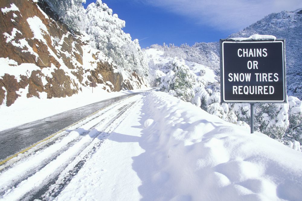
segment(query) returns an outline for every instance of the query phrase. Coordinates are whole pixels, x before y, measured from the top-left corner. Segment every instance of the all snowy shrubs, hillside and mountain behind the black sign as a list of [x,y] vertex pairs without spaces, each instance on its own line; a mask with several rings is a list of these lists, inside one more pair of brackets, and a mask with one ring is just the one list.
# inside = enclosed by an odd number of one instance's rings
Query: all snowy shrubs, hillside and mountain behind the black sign
[[[299,98],[302,98],[302,10],[270,14],[229,38],[247,38],[254,34],[275,35],[286,40],[289,96],[287,104],[255,104],[254,127],[296,150],[301,150],[302,104]],[[210,114],[249,127],[249,104],[220,105],[218,42],[195,43],[191,47],[187,44],[180,47],[174,44],[156,44],[145,51],[149,58],[150,79],[153,80],[151,84],[159,86],[161,91],[201,107]],[[196,76],[196,80],[191,73]],[[180,84],[180,80],[187,84]]]

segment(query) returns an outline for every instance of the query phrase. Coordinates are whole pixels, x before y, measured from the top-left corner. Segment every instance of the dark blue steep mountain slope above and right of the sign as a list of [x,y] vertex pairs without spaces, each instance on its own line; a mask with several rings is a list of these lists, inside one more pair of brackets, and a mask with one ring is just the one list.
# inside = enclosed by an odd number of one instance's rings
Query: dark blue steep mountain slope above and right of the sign
[[229,37],[248,37],[253,34],[274,35],[286,40],[288,95],[302,99],[302,8],[272,13]]

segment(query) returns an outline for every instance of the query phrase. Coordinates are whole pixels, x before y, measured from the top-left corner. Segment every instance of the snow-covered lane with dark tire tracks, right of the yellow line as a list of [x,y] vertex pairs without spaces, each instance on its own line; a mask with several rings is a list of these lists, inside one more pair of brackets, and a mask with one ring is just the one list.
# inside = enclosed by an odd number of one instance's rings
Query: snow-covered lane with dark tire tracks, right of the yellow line
[[0,166],[1,199],[57,196],[142,96],[117,101]]

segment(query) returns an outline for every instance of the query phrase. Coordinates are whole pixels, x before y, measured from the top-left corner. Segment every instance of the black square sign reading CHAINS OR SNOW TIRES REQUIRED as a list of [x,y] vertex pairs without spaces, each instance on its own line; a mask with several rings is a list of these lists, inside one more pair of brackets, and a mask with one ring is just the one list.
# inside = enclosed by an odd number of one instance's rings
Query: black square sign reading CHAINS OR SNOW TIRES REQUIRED
[[221,102],[286,102],[284,40],[220,40]]

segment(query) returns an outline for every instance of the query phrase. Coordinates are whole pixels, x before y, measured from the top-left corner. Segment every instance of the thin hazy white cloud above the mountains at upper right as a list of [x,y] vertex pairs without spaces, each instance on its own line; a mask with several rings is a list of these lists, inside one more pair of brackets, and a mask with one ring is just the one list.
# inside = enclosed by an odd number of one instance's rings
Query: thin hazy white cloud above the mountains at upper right
[[221,31],[239,31],[272,12],[302,8],[301,0],[140,0]]

